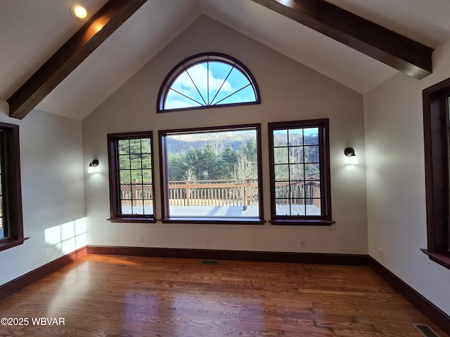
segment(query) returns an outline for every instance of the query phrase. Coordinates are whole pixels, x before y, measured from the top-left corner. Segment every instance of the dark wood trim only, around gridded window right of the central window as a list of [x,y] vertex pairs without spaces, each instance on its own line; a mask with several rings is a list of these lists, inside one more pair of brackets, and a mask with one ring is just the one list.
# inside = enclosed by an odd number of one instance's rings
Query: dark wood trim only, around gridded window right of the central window
[[[271,182],[271,224],[272,225],[320,225],[335,223],[331,217],[330,187],[330,143],[328,119],[312,119],[306,121],[281,121],[269,123],[269,164]],[[319,127],[319,161],[321,177],[321,216],[276,216],[276,187],[274,164],[274,136],[276,130],[285,128]]]

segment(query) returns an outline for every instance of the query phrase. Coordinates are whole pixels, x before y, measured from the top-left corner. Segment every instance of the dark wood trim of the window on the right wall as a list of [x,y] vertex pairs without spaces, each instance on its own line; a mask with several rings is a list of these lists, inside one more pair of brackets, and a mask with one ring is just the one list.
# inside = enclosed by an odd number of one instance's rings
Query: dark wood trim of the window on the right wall
[[450,79],[423,91],[427,249],[430,260],[450,269],[449,129]]

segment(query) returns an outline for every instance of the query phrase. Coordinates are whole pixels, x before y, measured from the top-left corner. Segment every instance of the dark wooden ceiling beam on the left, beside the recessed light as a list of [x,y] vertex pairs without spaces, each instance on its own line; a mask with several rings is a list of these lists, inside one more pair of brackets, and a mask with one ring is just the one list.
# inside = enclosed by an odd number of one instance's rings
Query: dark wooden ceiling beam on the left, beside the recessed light
[[108,1],[8,98],[10,117],[23,119],[146,1]]

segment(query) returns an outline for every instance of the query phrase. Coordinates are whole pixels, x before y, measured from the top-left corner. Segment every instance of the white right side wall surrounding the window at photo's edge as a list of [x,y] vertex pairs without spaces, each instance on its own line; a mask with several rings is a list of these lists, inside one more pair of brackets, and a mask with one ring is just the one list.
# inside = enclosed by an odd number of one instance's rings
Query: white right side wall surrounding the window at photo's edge
[[450,43],[433,58],[425,79],[397,74],[364,95],[368,253],[450,315],[450,270],[420,251],[427,247],[422,91],[450,77]]

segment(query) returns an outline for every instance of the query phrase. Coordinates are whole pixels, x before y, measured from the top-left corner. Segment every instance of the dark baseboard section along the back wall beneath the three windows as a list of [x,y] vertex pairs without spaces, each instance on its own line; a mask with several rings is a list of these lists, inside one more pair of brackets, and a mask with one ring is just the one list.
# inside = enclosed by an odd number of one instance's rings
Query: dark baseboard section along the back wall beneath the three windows
[[367,255],[290,253],[278,251],[223,251],[214,249],[167,249],[126,246],[87,246],[88,254],[153,256],[163,258],[199,258],[207,260],[243,260],[321,265],[367,265]]

